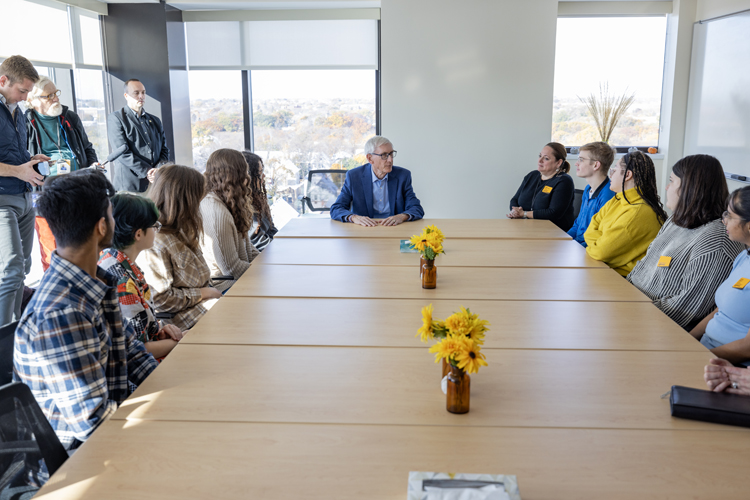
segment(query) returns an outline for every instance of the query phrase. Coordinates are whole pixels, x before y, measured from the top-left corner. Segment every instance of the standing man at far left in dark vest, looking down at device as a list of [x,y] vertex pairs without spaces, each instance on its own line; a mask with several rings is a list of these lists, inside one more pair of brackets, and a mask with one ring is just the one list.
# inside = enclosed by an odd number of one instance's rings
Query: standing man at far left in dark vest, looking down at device
[[25,57],[10,56],[0,64],[0,326],[21,316],[34,246],[31,188],[44,182],[36,164],[49,160],[26,150],[26,117],[18,108],[38,79]]

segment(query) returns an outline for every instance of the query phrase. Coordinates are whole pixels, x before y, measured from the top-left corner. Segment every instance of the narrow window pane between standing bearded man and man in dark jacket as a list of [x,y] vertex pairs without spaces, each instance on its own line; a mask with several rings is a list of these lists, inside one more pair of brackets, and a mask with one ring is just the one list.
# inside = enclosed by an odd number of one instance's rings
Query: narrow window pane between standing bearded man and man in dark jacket
[[83,122],[83,128],[86,129],[86,135],[94,145],[99,161],[103,162],[109,154],[109,146],[102,71],[77,69],[75,79],[78,116]]

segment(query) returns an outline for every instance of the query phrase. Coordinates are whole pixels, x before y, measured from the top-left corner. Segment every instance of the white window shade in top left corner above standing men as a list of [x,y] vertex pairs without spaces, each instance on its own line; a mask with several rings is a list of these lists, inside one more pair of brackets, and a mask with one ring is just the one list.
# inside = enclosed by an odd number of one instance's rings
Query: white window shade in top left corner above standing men
[[[2,13],[0,57],[22,55],[47,66],[72,63],[65,5],[3,0]],[[35,25],[35,20],[43,20],[43,24]]]

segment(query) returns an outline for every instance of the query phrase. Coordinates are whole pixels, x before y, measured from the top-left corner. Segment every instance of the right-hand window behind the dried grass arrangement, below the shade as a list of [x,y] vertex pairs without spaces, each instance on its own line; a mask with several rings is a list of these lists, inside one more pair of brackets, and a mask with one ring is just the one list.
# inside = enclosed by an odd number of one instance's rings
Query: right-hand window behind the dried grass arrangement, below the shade
[[552,140],[565,146],[600,140],[579,97],[598,95],[602,84],[610,95],[635,96],[610,144],[656,146],[666,29],[666,17],[559,18]]

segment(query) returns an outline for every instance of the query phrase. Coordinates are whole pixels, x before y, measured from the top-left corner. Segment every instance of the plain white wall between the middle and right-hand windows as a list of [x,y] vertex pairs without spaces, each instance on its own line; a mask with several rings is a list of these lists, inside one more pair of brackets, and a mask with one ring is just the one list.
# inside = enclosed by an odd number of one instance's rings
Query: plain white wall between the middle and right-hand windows
[[550,140],[556,27],[557,0],[382,0],[382,132],[427,217],[505,216]]

